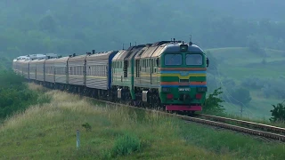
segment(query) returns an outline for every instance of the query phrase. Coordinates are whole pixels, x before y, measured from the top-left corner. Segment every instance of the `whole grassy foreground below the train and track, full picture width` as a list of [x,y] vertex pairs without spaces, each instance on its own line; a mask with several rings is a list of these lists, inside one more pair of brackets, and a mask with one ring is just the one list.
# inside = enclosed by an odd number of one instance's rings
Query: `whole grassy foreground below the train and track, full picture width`
[[[37,85],[31,85],[33,88]],[[59,91],[0,127],[1,158],[284,159],[285,146]],[[81,146],[76,148],[76,131]]]

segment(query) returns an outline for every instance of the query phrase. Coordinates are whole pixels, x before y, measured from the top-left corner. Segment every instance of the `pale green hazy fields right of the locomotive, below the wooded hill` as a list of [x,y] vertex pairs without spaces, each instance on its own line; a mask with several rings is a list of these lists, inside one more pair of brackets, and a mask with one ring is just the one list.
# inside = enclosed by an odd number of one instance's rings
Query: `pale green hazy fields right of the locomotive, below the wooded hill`
[[[252,100],[241,105],[244,108],[244,116],[269,118],[272,105],[283,100],[278,97],[281,95],[278,92],[284,92],[282,88],[285,87],[281,78],[284,76],[285,52],[265,49],[265,55],[261,55],[258,52],[250,52],[247,47],[214,48],[205,52],[216,59],[210,59],[210,67],[211,64],[218,65],[215,71],[209,73],[209,87],[222,86],[227,97],[232,96],[236,87],[247,88]],[[252,84],[258,84],[260,88],[251,88]],[[267,94],[269,97],[266,97]],[[240,115],[240,105],[225,102],[224,106],[228,112]]]

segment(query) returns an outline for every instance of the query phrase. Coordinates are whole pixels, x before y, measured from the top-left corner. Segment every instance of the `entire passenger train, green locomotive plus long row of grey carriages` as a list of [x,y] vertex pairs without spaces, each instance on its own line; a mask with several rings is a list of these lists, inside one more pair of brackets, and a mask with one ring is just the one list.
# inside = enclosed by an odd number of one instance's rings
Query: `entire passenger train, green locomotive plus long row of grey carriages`
[[159,41],[108,52],[27,55],[12,69],[29,82],[99,100],[169,112],[201,111],[209,60],[197,44]]

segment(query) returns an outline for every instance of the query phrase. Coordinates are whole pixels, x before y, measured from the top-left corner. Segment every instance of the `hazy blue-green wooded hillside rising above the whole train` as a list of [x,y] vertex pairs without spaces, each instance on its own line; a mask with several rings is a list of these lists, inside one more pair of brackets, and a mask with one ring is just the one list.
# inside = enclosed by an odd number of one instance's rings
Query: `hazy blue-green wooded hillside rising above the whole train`
[[284,4],[281,0],[4,0],[0,55],[102,52],[173,37],[188,42],[190,35],[203,49],[257,44],[284,50]]

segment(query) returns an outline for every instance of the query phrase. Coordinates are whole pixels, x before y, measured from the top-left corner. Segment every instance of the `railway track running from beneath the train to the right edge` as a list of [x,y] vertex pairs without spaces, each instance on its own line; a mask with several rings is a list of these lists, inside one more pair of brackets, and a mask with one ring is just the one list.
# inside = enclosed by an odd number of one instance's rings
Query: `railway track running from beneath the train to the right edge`
[[[90,98],[90,99],[93,99],[93,98]],[[97,100],[97,99],[93,99],[93,100]],[[194,123],[199,123],[199,124],[207,124],[210,126],[215,126],[215,127],[220,127],[220,128],[224,128],[227,130],[231,130],[234,132],[241,132],[241,133],[246,133],[246,134],[250,134],[250,135],[254,135],[254,136],[259,136],[258,139],[260,139],[260,140],[265,140],[265,141],[279,140],[281,142],[285,142],[285,135],[284,135],[285,128],[276,127],[276,126],[272,126],[272,125],[257,124],[257,123],[242,121],[242,120],[238,120],[238,119],[226,118],[226,117],[222,117],[222,116],[210,116],[210,115],[204,115],[204,114],[200,114],[197,117],[182,116],[182,115],[175,115],[175,114],[171,114],[171,113],[167,113],[167,112],[159,111],[159,110],[151,110],[148,108],[137,108],[134,106],[128,106],[126,104],[114,103],[114,102],[105,101],[105,100],[98,100],[98,101],[106,103],[107,105],[126,106],[128,108],[136,108],[136,109],[142,109],[142,110],[150,111],[150,112],[157,112],[159,114],[163,114],[166,116],[175,116],[175,117],[178,117],[178,118],[183,119],[183,120],[188,121],[188,122],[194,122]],[[207,119],[205,119],[205,118],[207,118]],[[219,121],[219,122],[216,122],[216,121]],[[226,124],[226,122],[240,124],[240,125],[244,125],[246,127],[234,125],[234,124]],[[252,129],[252,128],[257,128],[259,130]],[[266,132],[261,131],[261,130],[266,130]],[[270,132],[267,132],[267,131],[270,131]],[[278,132],[278,133],[276,133],[276,132]]]

